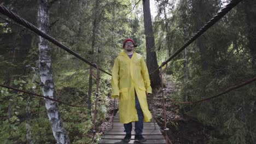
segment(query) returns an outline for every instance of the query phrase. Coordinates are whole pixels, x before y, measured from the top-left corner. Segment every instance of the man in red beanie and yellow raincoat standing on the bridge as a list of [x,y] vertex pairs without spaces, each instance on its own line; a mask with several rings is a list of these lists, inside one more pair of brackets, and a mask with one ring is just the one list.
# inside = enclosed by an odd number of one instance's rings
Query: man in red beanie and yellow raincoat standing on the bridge
[[119,98],[120,122],[126,132],[124,141],[130,141],[135,122],[135,140],[144,142],[143,122],[152,118],[147,103],[147,95],[152,93],[148,69],[143,57],[135,52],[132,39],[124,41],[123,49],[112,69],[112,98]]

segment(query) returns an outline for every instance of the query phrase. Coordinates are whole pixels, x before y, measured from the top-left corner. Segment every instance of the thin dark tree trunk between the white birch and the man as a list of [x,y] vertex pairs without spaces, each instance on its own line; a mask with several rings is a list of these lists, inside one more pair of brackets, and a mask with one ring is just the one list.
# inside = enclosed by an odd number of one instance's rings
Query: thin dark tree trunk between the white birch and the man
[[[98,9],[99,0],[96,0],[95,7],[94,7],[94,21],[92,23],[92,37],[91,37],[91,62],[94,62],[94,49],[95,49],[95,35],[96,35],[96,28],[97,28],[97,9]],[[90,67],[92,69],[92,67]],[[91,92],[92,92],[92,75],[90,73],[89,76],[89,90],[88,90],[88,110],[91,115]]]

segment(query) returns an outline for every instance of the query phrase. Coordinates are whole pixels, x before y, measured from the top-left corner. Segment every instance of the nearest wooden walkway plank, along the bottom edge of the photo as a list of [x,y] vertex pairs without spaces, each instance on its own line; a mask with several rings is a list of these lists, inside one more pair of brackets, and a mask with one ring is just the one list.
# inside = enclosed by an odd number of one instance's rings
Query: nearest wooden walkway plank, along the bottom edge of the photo
[[131,140],[130,142],[123,142],[123,140],[108,140],[108,139],[101,139],[98,143],[145,143],[145,144],[166,144],[165,140],[147,140],[146,142],[139,142],[136,140]]

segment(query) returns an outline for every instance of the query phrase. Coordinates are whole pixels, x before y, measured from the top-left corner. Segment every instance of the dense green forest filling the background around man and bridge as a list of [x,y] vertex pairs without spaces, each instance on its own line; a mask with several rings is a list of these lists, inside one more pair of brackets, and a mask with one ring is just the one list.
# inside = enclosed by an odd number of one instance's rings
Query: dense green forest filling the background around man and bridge
[[[154,43],[150,43],[152,49],[149,50],[144,32],[147,27],[144,23],[147,11],[143,11],[145,1],[45,1],[49,8],[49,34],[106,71],[111,71],[115,57],[122,51],[123,41],[132,38],[138,44],[136,52],[147,58],[150,67],[149,55],[155,52],[157,63],[161,65],[230,2],[153,1],[157,14],[152,16],[154,33],[150,41]],[[38,25],[37,1],[1,0],[0,4]],[[38,36],[2,14],[0,35],[1,84],[43,94]],[[49,45],[55,98],[86,106],[59,104],[63,127],[71,143],[91,143],[96,81],[89,73],[90,66],[54,44]],[[255,72],[256,2],[244,0],[168,64],[165,76],[176,88],[166,99],[194,101],[211,97],[252,79]],[[109,75],[101,74],[97,125],[107,121],[111,109],[110,79]],[[92,83],[91,88],[89,83]],[[154,87],[159,88],[159,81]],[[56,143],[43,99],[7,88],[0,90],[1,142]],[[207,143],[256,141],[255,82],[216,99],[182,104],[178,112],[205,125],[210,131]],[[177,126],[171,119],[168,123]],[[96,141],[100,137],[101,133],[97,133]]]

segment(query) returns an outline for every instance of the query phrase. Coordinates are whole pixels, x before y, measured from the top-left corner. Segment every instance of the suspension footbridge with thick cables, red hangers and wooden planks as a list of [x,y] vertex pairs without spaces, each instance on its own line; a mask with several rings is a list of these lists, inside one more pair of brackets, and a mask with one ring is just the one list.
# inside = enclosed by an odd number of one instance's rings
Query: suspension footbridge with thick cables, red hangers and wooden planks
[[[242,0],[232,0],[232,1],[230,1],[226,5],[226,7],[224,7],[222,10],[220,10],[220,12],[217,15],[215,15],[210,21],[206,22],[205,25],[203,25],[201,27],[201,29],[199,29],[199,31],[197,31],[188,41],[186,41],[185,44],[182,45],[181,48],[177,52],[175,52],[170,58],[168,58],[167,61],[162,62],[162,64],[160,65],[159,68],[155,69],[154,71],[152,71],[152,73],[150,73],[150,75],[151,75],[151,74],[155,73],[156,71],[160,70],[160,73],[159,73],[160,77],[161,77],[161,89],[160,89],[160,91],[162,92],[162,107],[163,107],[163,119],[164,119],[164,129],[162,129],[162,131],[164,131],[164,135],[162,135],[159,125],[155,122],[154,113],[152,113],[153,114],[152,121],[148,122],[148,123],[144,123],[144,133],[143,133],[143,135],[144,135],[144,137],[146,137],[147,141],[143,142],[143,143],[172,143],[171,140],[168,138],[167,133],[166,133],[167,130],[169,130],[169,129],[166,127],[167,119],[166,119],[165,100],[164,100],[164,93],[163,93],[165,91],[165,89],[162,85],[162,73],[163,73],[164,70],[162,70],[162,67],[164,67],[164,65],[166,65],[168,62],[170,62],[174,57],[176,57],[179,53],[181,53],[186,47],[188,47],[191,43],[193,43],[193,41],[195,41],[197,38],[199,38],[200,35],[205,33],[207,31],[207,29],[209,29],[211,26],[214,25],[214,23],[216,23],[220,19],[222,19],[223,16],[225,16],[232,8],[234,8],[241,1]],[[30,31],[40,35],[40,37],[50,41],[51,43],[53,43],[56,46],[60,47],[61,49],[65,50],[66,52],[70,53],[71,55],[73,55],[73,56],[77,57],[78,59],[82,60],[83,62],[91,65],[91,67],[94,67],[94,68],[97,69],[97,74],[94,74],[94,72],[92,70],[90,70],[90,73],[95,77],[95,79],[97,81],[97,83],[96,83],[97,87],[96,87],[96,93],[95,93],[96,94],[95,110],[94,110],[94,119],[93,119],[94,127],[93,127],[93,130],[92,130],[92,143],[94,143],[95,142],[95,140],[94,140],[95,139],[95,134],[97,133],[95,121],[96,121],[96,113],[97,113],[97,101],[100,97],[100,95],[98,95],[100,71],[102,71],[103,73],[105,73],[109,76],[111,76],[111,74],[108,73],[107,71],[103,70],[102,68],[98,67],[97,64],[91,63],[86,58],[83,58],[78,53],[72,51],[69,47],[61,44],[55,38],[46,34],[45,32],[43,32],[42,30],[40,30],[36,26],[32,25],[32,23],[26,21],[25,19],[23,19],[22,17],[20,17],[19,15],[15,14],[15,13],[13,13],[13,11],[9,10],[8,8],[4,7],[4,5],[1,5],[1,4],[0,4],[0,13],[9,17],[10,19],[15,21],[16,23],[19,23],[19,25],[24,26],[27,29],[29,29]],[[256,77],[254,77],[251,80],[241,82],[237,86],[230,87],[230,88],[226,89],[226,91],[220,92],[219,94],[214,95],[213,97],[210,97],[210,98],[205,98],[205,99],[201,99],[201,100],[197,100],[197,101],[176,101],[176,100],[171,100],[171,101],[173,103],[181,103],[181,104],[201,103],[202,101],[205,101],[205,100],[210,100],[210,99],[213,99],[213,98],[220,97],[223,94],[226,94],[230,91],[233,91],[234,89],[246,86],[249,83],[252,83],[254,81],[256,81]],[[27,94],[30,94],[30,95],[34,95],[36,97],[41,97],[41,98],[48,99],[48,100],[51,100],[51,101],[56,101],[57,103],[61,103],[61,104],[72,106],[72,107],[86,107],[86,106],[67,104],[63,101],[59,101],[59,100],[56,100],[56,99],[53,99],[53,98],[49,98],[48,95],[40,95],[40,94],[36,94],[36,93],[32,93],[32,92],[26,92],[26,91],[23,91],[21,89],[17,89],[17,88],[14,88],[14,87],[2,85],[1,83],[0,83],[0,86],[8,88],[8,89],[13,89],[14,91],[19,91],[19,92],[22,92],[22,93],[27,93]],[[134,123],[133,123],[133,125],[134,125]],[[105,131],[105,133],[102,136],[102,139],[100,140],[99,143],[123,143],[122,140],[123,140],[124,136],[125,136],[125,132],[124,132],[123,124],[119,123],[119,113],[117,113],[117,115],[113,116],[113,118],[112,118],[111,127]],[[134,133],[133,132],[132,132],[132,139],[129,143],[137,143],[137,141],[134,140]]]

